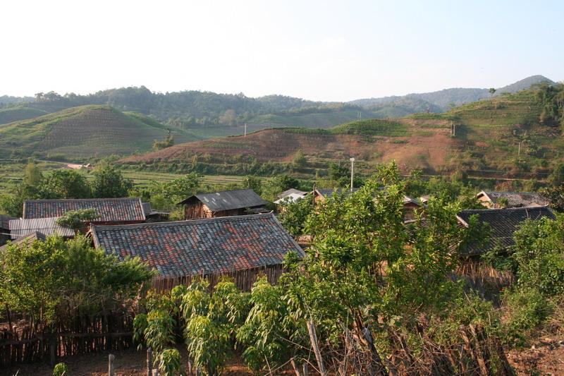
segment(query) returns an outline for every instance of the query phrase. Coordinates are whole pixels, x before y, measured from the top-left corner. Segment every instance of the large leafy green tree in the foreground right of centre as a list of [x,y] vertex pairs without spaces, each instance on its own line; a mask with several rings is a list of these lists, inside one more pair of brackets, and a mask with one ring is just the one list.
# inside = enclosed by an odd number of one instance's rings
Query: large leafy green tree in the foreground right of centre
[[455,216],[460,207],[431,200],[427,217],[417,216],[407,229],[404,195],[395,164],[379,166],[356,193],[333,195],[307,219],[307,256],[290,255],[290,272],[281,278],[295,320],[311,320],[326,346],[359,339],[376,374],[385,368],[373,331],[385,336],[397,320],[414,328],[443,315],[462,293],[449,277],[458,265],[453,245],[465,241]]

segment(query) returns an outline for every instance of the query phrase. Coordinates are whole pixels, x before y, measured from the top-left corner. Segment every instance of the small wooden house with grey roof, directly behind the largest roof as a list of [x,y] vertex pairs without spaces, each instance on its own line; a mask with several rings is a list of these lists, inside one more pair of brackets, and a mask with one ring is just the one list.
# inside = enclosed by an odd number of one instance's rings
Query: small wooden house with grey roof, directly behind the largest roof
[[202,219],[265,212],[267,203],[252,189],[238,189],[200,193],[178,202],[178,205],[184,205],[185,219]]

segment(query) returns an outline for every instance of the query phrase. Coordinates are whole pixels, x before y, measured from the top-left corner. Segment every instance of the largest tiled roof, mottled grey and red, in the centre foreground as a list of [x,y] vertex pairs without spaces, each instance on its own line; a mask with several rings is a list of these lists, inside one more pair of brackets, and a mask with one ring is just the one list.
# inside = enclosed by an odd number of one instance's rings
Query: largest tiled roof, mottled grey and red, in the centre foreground
[[220,274],[279,265],[288,251],[304,255],[274,214],[180,222],[92,226],[94,245],[121,260],[139,256],[164,277]]

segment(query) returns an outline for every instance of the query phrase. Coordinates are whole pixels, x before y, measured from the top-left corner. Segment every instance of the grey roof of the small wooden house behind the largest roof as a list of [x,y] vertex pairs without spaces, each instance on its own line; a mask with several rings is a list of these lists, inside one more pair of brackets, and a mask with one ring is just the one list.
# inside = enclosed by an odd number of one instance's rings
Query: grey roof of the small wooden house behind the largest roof
[[186,204],[197,198],[204,203],[212,212],[223,210],[245,209],[245,207],[259,207],[266,205],[264,201],[252,189],[224,190],[223,192],[201,193],[200,195],[190,196],[178,205]]

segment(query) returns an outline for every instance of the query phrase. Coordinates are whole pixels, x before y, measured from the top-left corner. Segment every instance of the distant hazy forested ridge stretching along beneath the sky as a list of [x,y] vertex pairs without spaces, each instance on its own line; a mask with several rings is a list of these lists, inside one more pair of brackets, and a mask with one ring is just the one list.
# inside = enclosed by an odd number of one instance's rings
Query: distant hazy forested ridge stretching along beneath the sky
[[[501,87],[497,94],[517,92],[540,82],[552,82],[535,75]],[[152,92],[145,86],[103,90],[90,95],[56,92],[30,97],[0,97],[0,124],[32,119],[62,109],[83,105],[109,105],[122,111],[136,111],[179,128],[235,126],[242,123],[264,126],[314,126],[328,128],[357,116],[384,119],[409,114],[439,113],[453,105],[489,97],[488,89],[454,88],[403,97],[358,99],[353,102],[313,102],[283,95],[246,97],[214,92]],[[229,134],[231,132],[226,132]],[[204,135],[205,136],[205,135]]]

